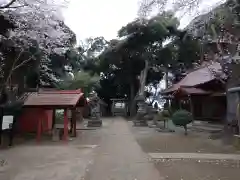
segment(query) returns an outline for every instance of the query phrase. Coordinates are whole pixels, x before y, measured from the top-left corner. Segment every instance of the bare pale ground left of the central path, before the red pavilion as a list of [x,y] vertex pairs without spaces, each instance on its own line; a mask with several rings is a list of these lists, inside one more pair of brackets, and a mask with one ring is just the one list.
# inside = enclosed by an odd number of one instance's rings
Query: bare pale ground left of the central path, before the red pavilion
[[99,130],[77,133],[67,143],[44,135],[40,143],[35,135],[16,137],[13,147],[0,149],[0,180],[80,180],[104,136]]

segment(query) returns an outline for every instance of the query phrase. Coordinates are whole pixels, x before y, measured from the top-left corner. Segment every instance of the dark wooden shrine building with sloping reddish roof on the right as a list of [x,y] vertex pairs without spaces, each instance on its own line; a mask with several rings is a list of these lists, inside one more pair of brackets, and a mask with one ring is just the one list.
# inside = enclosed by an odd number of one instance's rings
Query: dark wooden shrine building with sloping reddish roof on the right
[[219,70],[221,66],[217,63],[209,66],[190,72],[162,94],[172,96],[173,109],[186,109],[194,119],[222,121],[226,116],[225,84],[210,71],[210,68]]

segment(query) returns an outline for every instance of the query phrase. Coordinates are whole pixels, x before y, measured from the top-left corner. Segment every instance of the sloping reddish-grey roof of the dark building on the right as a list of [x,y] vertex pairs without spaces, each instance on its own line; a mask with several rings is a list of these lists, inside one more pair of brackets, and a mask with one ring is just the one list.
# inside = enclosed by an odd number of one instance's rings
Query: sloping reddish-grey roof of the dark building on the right
[[196,85],[204,84],[209,81],[212,81],[216,79],[216,77],[213,75],[211,70],[213,70],[214,72],[220,72],[221,65],[216,62],[211,65],[207,65],[205,67],[196,69],[188,73],[180,82],[164,90],[162,93],[170,93],[178,90],[180,87],[194,87]]

